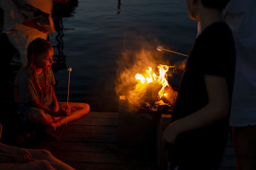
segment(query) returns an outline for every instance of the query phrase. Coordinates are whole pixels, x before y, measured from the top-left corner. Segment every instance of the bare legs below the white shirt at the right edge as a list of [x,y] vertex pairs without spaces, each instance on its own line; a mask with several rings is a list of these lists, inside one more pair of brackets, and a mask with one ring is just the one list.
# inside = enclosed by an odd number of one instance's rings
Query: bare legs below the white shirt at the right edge
[[256,126],[233,127],[237,169],[256,169]]

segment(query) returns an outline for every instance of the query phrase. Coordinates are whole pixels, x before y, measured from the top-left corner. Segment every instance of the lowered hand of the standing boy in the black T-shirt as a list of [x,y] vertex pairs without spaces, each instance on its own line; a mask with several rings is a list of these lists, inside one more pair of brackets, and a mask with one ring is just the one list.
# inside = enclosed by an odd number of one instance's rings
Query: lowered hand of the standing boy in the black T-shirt
[[166,129],[163,131],[163,140],[170,144],[175,144],[175,141],[177,139],[179,132],[179,128],[175,126],[176,122],[173,122],[172,124],[168,125]]

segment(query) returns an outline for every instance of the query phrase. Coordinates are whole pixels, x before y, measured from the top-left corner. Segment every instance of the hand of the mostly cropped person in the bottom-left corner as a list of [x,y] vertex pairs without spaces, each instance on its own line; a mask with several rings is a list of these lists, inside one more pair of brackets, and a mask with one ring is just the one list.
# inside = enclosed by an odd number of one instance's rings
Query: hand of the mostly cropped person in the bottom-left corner
[[15,148],[12,155],[16,155],[15,160],[19,163],[27,163],[31,161],[31,153],[24,148]]

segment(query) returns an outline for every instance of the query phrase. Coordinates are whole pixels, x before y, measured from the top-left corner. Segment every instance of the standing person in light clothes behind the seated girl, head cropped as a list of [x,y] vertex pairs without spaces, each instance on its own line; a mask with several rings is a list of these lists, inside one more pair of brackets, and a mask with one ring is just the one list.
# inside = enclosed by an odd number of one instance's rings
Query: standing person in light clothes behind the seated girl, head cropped
[[[6,43],[11,43],[20,55],[21,67],[15,76],[15,87],[20,71],[28,62],[29,43],[36,38],[47,39],[48,33],[55,32],[52,21],[52,1],[67,2],[68,0],[0,0],[0,8],[4,11],[2,34],[6,34],[9,41]],[[15,101],[17,97],[15,89]]]

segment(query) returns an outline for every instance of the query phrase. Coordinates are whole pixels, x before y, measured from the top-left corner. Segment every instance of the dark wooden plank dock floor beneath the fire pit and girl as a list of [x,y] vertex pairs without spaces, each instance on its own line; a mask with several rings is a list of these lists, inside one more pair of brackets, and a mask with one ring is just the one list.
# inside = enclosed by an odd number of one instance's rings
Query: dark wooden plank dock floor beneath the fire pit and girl
[[[155,153],[118,146],[118,113],[91,112],[69,124],[60,138],[47,138],[33,148],[47,149],[75,169],[157,169]],[[236,169],[231,136],[221,164],[224,169]]]

